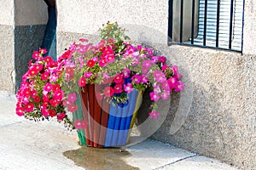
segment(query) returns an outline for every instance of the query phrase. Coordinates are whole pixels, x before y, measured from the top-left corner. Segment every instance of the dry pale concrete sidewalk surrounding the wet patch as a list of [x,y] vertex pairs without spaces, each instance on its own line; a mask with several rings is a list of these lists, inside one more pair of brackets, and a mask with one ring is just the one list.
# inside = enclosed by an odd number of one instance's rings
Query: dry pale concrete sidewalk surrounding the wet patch
[[[15,95],[0,92],[0,169],[84,169],[63,156],[78,150],[76,132],[56,122],[32,122],[15,115]],[[124,161],[139,169],[235,170],[218,160],[147,139],[126,148]],[[85,161],[85,160],[84,160]],[[93,162],[92,162],[93,163]],[[113,167],[113,169],[116,169]]]

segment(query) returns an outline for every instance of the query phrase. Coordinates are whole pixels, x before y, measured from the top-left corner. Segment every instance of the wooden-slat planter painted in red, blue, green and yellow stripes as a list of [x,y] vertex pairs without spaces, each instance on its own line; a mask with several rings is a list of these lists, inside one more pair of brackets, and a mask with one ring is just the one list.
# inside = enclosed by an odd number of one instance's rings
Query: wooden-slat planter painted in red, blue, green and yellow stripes
[[[86,85],[80,94],[79,110],[74,113],[75,120],[88,122],[88,127],[79,129],[80,144],[102,148],[125,145],[142,101],[142,94],[133,90],[128,94],[128,102],[113,105],[106,99],[96,98],[96,86]],[[79,102],[79,101],[78,101]]]

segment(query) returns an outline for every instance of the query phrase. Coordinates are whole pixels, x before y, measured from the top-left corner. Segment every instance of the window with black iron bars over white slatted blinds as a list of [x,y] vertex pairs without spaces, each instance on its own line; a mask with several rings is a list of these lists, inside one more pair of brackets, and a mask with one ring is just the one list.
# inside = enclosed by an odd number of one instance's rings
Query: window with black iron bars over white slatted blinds
[[169,43],[242,51],[243,0],[169,0]]

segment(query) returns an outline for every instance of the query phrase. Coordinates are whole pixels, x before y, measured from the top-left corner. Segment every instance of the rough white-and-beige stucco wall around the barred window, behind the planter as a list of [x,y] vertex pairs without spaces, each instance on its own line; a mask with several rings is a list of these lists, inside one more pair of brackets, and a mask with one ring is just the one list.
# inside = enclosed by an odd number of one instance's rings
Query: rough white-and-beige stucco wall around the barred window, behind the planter
[[[166,46],[168,2],[57,1],[58,54],[108,20],[130,26],[132,39],[160,49],[183,73],[185,90],[154,139],[256,169],[255,2],[246,0],[244,53]],[[129,25],[130,24],[130,25]],[[174,109],[173,109],[174,108]],[[175,118],[176,117],[176,118]]]

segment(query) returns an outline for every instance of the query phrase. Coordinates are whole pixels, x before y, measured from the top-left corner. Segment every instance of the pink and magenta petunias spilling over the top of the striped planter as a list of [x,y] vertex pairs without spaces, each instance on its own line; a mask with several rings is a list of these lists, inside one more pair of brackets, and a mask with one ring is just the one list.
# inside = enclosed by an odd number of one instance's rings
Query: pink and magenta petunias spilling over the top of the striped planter
[[[116,24],[108,24],[102,32],[116,29]],[[160,115],[156,111],[157,101],[169,99],[173,91],[183,90],[177,66],[167,65],[166,57],[155,55],[151,48],[109,35],[108,32],[108,37],[105,35],[96,45],[86,39],[73,42],[61,56],[67,58],[62,86],[66,96],[78,94],[86,84],[97,84],[101,85],[96,91],[98,99],[108,98],[108,101],[123,105],[133,89],[143,93],[146,88],[151,88],[153,104],[149,116],[157,118]]]

